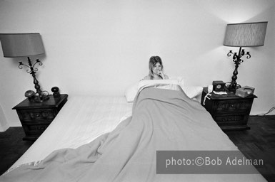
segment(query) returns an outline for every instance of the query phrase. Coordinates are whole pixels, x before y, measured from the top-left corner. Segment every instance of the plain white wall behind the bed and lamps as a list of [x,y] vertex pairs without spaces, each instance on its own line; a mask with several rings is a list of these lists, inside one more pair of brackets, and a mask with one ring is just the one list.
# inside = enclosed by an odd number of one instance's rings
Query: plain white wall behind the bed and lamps
[[[160,55],[167,75],[186,85],[231,81],[234,63],[223,46],[227,23],[269,21],[262,47],[246,48],[251,58],[237,82],[256,88],[251,114],[274,106],[274,0],[0,0],[0,33],[41,33],[46,55],[38,80],[44,90],[59,86],[73,96],[123,95],[148,73]],[[31,75],[0,51],[0,102],[10,126],[20,126],[11,108],[34,90]]]

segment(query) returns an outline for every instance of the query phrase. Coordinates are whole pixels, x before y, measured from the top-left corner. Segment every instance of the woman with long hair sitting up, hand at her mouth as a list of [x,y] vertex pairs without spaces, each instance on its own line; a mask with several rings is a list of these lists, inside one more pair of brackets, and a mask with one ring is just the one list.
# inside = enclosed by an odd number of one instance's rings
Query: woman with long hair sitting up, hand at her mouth
[[161,58],[159,56],[152,56],[149,60],[149,74],[142,80],[162,80],[169,79],[167,75],[164,75],[164,66],[162,65]]

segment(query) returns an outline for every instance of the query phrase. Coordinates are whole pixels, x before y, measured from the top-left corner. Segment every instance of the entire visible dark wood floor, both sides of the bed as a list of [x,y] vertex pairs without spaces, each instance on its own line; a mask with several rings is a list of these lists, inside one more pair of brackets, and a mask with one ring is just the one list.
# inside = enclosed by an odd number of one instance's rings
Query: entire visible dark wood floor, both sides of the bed
[[[248,159],[263,159],[264,166],[256,166],[267,181],[275,181],[275,115],[250,117],[251,129],[225,132]],[[21,127],[0,132],[0,173],[4,173],[33,144],[23,141]]]

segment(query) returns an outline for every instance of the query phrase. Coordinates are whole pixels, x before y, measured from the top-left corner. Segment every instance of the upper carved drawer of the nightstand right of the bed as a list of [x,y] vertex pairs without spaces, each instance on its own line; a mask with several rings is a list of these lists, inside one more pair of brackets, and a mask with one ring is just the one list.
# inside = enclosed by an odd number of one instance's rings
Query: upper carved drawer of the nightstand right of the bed
[[250,111],[253,100],[224,100],[216,102],[214,108],[219,112],[246,112]]

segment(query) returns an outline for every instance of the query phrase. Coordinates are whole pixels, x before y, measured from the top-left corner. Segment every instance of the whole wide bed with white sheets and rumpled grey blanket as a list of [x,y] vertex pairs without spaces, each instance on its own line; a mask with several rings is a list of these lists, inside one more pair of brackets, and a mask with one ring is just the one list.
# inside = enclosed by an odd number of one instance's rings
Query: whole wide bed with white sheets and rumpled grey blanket
[[0,181],[266,181],[254,166],[252,174],[157,174],[156,151],[238,149],[179,80],[136,88],[134,99],[69,97]]

